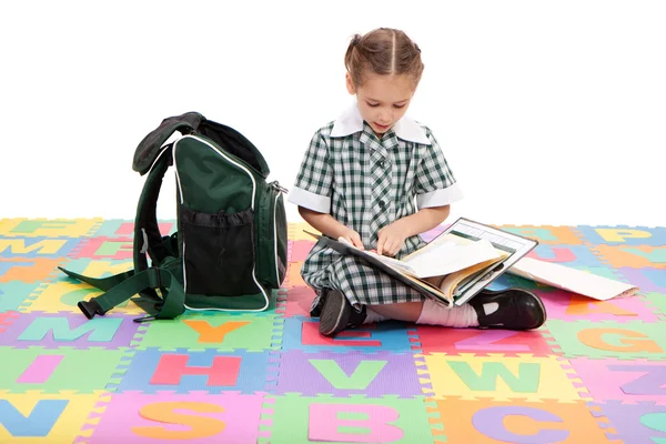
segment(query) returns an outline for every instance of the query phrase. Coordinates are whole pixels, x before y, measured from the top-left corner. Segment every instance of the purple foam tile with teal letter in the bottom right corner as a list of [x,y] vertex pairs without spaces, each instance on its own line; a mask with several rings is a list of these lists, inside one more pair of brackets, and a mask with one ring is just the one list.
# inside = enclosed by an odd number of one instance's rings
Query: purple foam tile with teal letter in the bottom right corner
[[643,402],[627,405],[620,401],[592,403],[593,414],[601,416],[613,427],[609,438],[625,443],[666,442],[666,406]]

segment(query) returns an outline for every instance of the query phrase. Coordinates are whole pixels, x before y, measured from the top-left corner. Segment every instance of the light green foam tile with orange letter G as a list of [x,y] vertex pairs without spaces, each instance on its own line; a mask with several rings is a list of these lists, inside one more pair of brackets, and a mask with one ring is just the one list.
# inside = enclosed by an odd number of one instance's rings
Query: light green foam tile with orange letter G
[[663,323],[548,321],[554,351],[566,357],[666,359]]

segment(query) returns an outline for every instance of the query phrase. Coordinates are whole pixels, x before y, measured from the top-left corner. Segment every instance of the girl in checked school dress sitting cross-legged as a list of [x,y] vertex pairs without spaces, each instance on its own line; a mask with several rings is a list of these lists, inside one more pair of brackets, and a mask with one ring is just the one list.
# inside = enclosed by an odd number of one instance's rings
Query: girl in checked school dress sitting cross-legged
[[[418,47],[381,28],[355,36],[344,62],[355,101],[315,132],[289,201],[323,234],[400,259],[425,245],[418,234],[444,222],[462,193],[431,130],[405,115],[423,72]],[[525,290],[485,290],[447,307],[320,243],[301,275],[316,293],[311,315],[327,336],[385,319],[511,330],[546,319],[542,301]]]

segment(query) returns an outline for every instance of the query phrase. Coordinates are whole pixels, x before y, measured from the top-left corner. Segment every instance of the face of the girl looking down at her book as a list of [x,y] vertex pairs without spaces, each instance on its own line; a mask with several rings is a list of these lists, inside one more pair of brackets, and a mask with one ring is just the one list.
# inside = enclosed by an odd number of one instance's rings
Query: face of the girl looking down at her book
[[377,137],[382,137],[407,112],[414,95],[414,78],[410,74],[366,74],[362,85],[355,87],[346,74],[350,94],[356,94],[359,111]]

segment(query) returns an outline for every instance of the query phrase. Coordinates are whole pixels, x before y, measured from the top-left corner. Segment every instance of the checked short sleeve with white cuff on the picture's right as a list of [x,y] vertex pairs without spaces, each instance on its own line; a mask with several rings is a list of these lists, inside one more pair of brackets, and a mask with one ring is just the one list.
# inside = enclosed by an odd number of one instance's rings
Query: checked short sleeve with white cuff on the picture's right
[[425,147],[415,174],[416,202],[420,209],[448,205],[463,198],[437,140],[428,129],[426,134],[431,145]]

